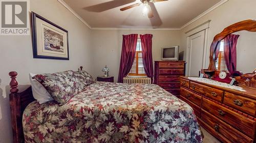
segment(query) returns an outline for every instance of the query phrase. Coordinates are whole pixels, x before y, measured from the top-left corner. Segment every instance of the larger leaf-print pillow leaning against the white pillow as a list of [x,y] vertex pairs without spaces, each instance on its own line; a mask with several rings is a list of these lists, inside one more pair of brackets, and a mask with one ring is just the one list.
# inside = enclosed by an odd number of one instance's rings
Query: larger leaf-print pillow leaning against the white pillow
[[65,104],[78,93],[73,71],[37,74],[33,77],[40,82],[60,105]]

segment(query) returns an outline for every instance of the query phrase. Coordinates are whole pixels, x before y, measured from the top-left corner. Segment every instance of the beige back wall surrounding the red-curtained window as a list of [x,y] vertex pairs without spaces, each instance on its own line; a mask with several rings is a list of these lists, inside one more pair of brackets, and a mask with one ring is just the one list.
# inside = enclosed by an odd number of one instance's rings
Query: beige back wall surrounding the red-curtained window
[[160,30],[93,30],[92,47],[94,76],[102,75],[101,69],[107,65],[110,75],[118,78],[120,56],[122,50],[122,35],[153,34],[153,61],[160,60],[162,47],[180,45],[180,31]]

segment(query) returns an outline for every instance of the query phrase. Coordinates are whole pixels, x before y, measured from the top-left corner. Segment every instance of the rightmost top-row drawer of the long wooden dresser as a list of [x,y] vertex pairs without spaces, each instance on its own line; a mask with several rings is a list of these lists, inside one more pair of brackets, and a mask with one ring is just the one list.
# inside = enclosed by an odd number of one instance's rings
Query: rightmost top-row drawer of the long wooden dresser
[[236,108],[240,111],[248,113],[251,116],[256,117],[256,101],[251,100],[239,95],[225,92],[224,104]]

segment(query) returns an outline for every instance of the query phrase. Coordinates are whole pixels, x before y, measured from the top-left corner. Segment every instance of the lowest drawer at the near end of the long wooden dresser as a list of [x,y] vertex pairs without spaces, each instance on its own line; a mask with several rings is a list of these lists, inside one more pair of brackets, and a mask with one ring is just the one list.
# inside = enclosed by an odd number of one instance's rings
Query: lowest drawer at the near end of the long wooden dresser
[[215,116],[212,116],[210,113],[208,113],[203,109],[201,111],[201,119],[204,122],[206,122],[209,126],[211,126],[211,128],[213,128],[216,133],[222,134],[230,142],[237,142],[237,143],[253,142],[253,139],[249,138],[248,136],[244,135],[238,130],[232,128],[228,124],[224,123],[223,121],[216,118]]

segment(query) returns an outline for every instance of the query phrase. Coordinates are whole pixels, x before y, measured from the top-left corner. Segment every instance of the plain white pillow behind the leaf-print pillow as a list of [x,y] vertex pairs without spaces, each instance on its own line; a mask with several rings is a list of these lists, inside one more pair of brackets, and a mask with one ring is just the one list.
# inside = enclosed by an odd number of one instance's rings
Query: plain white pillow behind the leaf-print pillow
[[39,104],[46,103],[48,101],[52,101],[53,98],[51,95],[47,92],[44,86],[42,86],[41,83],[39,83],[36,79],[33,79],[32,77],[36,74],[29,73],[29,80],[32,87],[32,93],[33,97],[39,102]]

